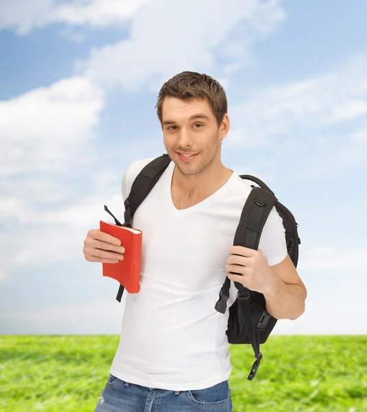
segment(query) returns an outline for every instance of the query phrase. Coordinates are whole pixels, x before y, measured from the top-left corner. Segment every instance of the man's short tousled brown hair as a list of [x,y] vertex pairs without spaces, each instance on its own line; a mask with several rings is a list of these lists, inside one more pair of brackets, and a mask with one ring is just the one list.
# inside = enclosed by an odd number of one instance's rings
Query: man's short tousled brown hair
[[223,116],[227,113],[227,97],[221,84],[207,74],[196,71],[183,71],[165,82],[159,91],[157,116],[162,124],[162,105],[167,96],[182,100],[207,99],[220,126]]

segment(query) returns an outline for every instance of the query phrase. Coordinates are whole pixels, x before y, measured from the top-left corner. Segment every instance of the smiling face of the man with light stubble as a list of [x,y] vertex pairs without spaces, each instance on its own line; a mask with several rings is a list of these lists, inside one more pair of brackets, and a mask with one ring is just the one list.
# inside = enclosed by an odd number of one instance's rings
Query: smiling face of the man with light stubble
[[[192,119],[191,117],[201,115]],[[182,174],[198,174],[221,163],[221,139],[229,130],[225,114],[219,127],[208,100],[167,97],[162,105],[164,146]],[[185,161],[179,153],[195,154]]]

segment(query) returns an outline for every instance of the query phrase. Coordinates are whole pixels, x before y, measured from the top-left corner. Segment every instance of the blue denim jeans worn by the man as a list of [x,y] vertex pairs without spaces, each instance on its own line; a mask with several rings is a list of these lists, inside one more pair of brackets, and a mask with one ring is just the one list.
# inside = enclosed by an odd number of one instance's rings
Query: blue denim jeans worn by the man
[[210,388],[168,391],[109,376],[94,412],[232,412],[228,380]]

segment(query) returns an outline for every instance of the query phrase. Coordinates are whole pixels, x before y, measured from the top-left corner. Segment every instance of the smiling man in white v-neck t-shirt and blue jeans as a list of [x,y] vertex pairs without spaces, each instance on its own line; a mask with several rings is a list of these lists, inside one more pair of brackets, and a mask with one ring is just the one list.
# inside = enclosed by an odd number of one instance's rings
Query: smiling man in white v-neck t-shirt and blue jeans
[[[179,73],[162,86],[156,108],[172,161],[133,218],[143,231],[140,292],[126,294],[120,344],[96,412],[228,412],[232,365],[225,331],[233,282],[226,313],[214,308],[225,276],[263,293],[276,319],[300,317],[307,290],[275,207],[258,251],[231,246],[252,187],[221,163],[230,119],[219,82]],[[153,159],[126,168],[124,199]],[[115,240],[91,229],[85,258],[118,262],[124,245]]]

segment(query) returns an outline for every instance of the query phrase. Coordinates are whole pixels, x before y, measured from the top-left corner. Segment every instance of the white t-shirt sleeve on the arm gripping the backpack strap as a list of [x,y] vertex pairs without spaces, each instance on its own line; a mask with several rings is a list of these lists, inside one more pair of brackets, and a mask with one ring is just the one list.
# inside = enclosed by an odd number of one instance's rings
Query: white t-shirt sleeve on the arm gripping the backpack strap
[[260,236],[258,249],[267,257],[269,266],[274,266],[287,257],[287,242],[285,240],[285,227],[276,207],[271,209]]

